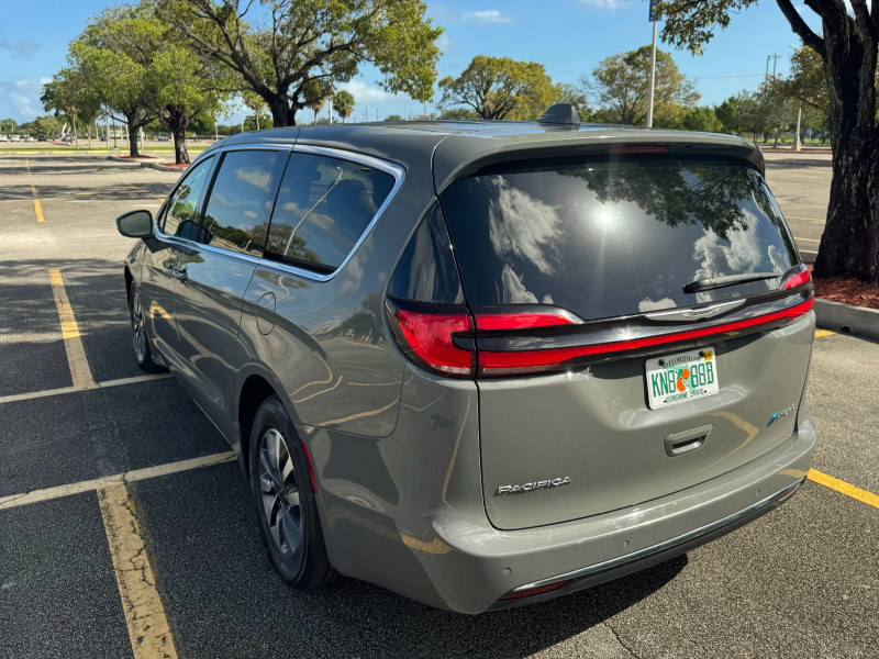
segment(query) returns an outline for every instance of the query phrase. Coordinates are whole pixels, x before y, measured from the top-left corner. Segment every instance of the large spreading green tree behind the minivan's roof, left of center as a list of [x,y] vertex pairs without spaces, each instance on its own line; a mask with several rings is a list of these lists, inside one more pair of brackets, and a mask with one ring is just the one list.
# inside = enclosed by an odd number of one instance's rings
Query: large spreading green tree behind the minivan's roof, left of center
[[262,97],[276,126],[296,125],[312,81],[333,87],[360,64],[376,66],[382,87],[418,100],[433,96],[442,29],[424,18],[421,0],[157,0],[162,15],[200,53],[235,70]]

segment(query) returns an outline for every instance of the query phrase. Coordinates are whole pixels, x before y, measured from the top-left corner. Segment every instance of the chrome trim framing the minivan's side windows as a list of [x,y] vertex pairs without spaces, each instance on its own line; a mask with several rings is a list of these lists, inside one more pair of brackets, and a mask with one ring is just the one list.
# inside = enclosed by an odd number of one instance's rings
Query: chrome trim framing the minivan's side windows
[[[198,243],[196,241],[189,241],[187,238],[180,238],[178,236],[171,236],[171,235],[168,235],[168,234],[162,232],[162,230],[158,226],[158,221],[156,221],[154,223],[154,233],[156,234],[156,237],[158,237],[158,238],[160,238],[163,241],[169,242],[169,243],[174,243],[174,244],[180,245],[181,247],[193,246],[193,247],[196,247],[198,249],[204,249],[204,250],[211,252],[213,254],[221,254],[221,255],[231,256],[231,257],[234,257],[234,258],[240,258],[240,259],[245,260],[247,263],[252,263],[255,266],[260,266],[260,267],[265,267],[265,268],[271,268],[274,270],[280,270],[281,272],[287,272],[289,275],[296,275],[297,277],[303,277],[303,278],[310,279],[312,281],[330,281],[331,279],[335,278],[345,268],[345,266],[347,265],[347,263],[352,258],[354,258],[354,255],[357,253],[357,249],[359,249],[360,245],[364,243],[364,241],[366,241],[366,238],[372,232],[372,227],[376,225],[376,222],[378,222],[378,219],[381,217],[382,213],[385,212],[385,209],[387,209],[388,205],[390,205],[391,201],[393,201],[393,198],[397,197],[397,192],[400,190],[400,188],[403,186],[403,182],[405,181],[405,169],[403,167],[401,167],[400,165],[397,165],[394,163],[389,163],[387,160],[381,160],[381,159],[372,157],[372,156],[367,156],[366,154],[347,152],[347,150],[343,150],[343,149],[338,149],[338,148],[331,148],[331,147],[325,147],[325,146],[313,146],[313,145],[310,145],[310,144],[292,144],[292,145],[291,144],[278,144],[278,145],[275,145],[275,144],[254,144],[254,145],[234,144],[234,145],[231,145],[231,146],[222,146],[219,149],[211,149],[210,152],[205,152],[203,155],[208,155],[208,153],[213,155],[213,154],[224,154],[226,152],[233,152],[233,150],[256,150],[256,149],[259,149],[259,150],[291,150],[293,153],[303,153],[303,154],[310,154],[310,155],[315,155],[315,156],[326,156],[326,157],[330,157],[330,158],[337,158],[340,160],[348,160],[351,163],[357,163],[358,165],[366,165],[367,167],[370,167],[372,169],[377,169],[377,170],[382,171],[385,174],[389,174],[389,175],[391,175],[393,177],[393,187],[391,188],[391,191],[388,193],[388,197],[385,199],[383,203],[379,206],[378,211],[376,211],[376,214],[369,221],[369,224],[366,225],[366,228],[364,230],[363,234],[360,234],[359,239],[351,248],[351,252],[348,252],[348,255],[342,260],[342,263],[338,265],[338,267],[335,270],[333,270],[332,272],[327,272],[326,275],[321,275],[319,272],[314,272],[314,271],[308,270],[305,268],[299,268],[297,266],[285,264],[285,263],[279,261],[279,260],[272,260],[272,259],[266,258],[265,256],[262,256],[262,257],[253,256],[253,255],[249,255],[249,254],[244,254],[242,252],[233,252],[232,249],[226,249],[225,247],[214,247],[212,245],[204,245],[204,244]],[[192,163],[192,166],[197,165],[199,163],[199,160],[201,160],[201,159],[202,159],[202,156],[199,156],[198,158],[196,158],[196,160]],[[218,160],[218,163],[219,163],[219,160]],[[174,188],[174,191],[176,191],[176,190],[177,190],[177,186],[175,186],[175,188]],[[171,191],[170,194],[174,194],[174,191]],[[170,194],[168,194],[168,197],[170,197]],[[167,198],[166,198],[166,201],[167,201]],[[274,214],[275,214],[275,210],[272,209],[272,215]],[[269,226],[270,226],[270,224],[269,224]]]

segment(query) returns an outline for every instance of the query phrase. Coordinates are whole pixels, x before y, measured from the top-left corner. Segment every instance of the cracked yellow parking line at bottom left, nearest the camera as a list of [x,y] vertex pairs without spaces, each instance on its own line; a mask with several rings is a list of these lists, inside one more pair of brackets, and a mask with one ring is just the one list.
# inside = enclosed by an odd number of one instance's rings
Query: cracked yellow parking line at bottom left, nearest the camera
[[134,659],[176,659],[174,636],[129,489],[125,483],[102,488],[98,501]]

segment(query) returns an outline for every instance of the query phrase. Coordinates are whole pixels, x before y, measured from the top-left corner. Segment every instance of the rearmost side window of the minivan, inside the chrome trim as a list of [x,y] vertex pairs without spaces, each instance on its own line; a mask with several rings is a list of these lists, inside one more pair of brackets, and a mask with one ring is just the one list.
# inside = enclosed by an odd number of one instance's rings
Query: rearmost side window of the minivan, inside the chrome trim
[[281,181],[266,253],[335,270],[393,188],[393,177],[364,165],[293,154]]

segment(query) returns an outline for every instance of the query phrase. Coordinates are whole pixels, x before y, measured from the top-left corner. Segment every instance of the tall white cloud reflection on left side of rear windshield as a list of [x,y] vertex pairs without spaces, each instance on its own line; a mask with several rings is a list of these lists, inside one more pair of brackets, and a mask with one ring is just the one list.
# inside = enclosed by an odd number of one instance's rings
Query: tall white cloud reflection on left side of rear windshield
[[552,275],[547,253],[560,234],[556,208],[511,187],[503,177],[492,185],[497,188],[497,200],[489,204],[489,235],[494,252],[499,256],[521,256],[541,272]]

